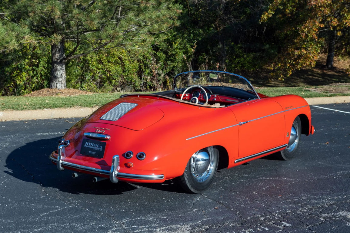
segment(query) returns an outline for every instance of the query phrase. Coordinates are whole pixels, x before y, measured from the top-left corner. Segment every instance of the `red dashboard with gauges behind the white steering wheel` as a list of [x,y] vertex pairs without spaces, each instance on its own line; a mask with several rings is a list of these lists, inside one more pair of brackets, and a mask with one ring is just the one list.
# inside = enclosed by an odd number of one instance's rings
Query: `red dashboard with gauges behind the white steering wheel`
[[[193,97],[197,97],[198,101],[205,103],[206,96],[205,96],[205,93],[202,89],[193,88],[190,91],[191,91],[190,93],[184,94],[183,100],[190,101]],[[182,94],[175,94],[175,98],[181,99],[181,95]],[[239,98],[235,98],[235,97],[231,97],[231,96],[211,94],[209,91],[207,91],[207,95],[208,95],[208,103],[209,104],[224,103],[224,104],[228,105],[228,104],[239,103],[239,102],[245,101],[243,99],[239,99]]]

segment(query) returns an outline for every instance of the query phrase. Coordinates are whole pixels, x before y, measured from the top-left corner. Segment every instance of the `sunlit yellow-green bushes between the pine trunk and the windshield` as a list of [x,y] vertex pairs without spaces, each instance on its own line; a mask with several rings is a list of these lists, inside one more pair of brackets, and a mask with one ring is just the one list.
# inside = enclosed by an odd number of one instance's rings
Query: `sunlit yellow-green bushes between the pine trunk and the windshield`
[[168,89],[170,81],[163,72],[164,58],[152,49],[99,50],[66,65],[67,87],[91,92]]

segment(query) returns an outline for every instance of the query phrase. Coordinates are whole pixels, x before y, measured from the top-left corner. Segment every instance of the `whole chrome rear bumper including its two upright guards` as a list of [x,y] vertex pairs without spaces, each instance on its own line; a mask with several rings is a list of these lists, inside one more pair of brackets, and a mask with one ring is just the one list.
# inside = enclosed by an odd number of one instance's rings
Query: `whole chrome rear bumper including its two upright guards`
[[[57,158],[59,158],[59,160],[53,158],[51,155],[49,156],[49,159],[52,162],[56,163],[58,170],[63,170],[64,169],[63,166],[64,166],[64,167],[76,168],[76,169],[87,171],[87,172],[93,172],[93,173],[102,174],[102,175],[109,175],[110,180],[113,183],[118,182],[118,178],[133,179],[133,180],[163,180],[164,179],[164,175],[137,175],[137,174],[116,172],[116,170],[119,167],[119,156],[118,156],[118,161],[116,161],[117,159],[114,158],[115,156],[113,156],[114,160],[113,160],[113,165],[111,167],[111,171],[93,168],[93,167],[86,167],[83,165],[78,165],[75,163],[64,161],[63,160],[64,157],[62,157],[62,155],[60,156],[60,154],[58,154],[58,157],[57,157]],[[58,163],[57,163],[57,161],[58,161]],[[114,163],[116,163],[117,166],[115,166]],[[113,173],[116,175],[113,175]],[[115,177],[115,179],[113,179],[113,177]]]

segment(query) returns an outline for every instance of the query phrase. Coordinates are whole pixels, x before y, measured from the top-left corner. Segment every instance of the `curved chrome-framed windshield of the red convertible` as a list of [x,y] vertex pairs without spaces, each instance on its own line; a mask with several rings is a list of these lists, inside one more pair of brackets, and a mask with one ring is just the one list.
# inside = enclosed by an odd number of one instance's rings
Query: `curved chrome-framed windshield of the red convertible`
[[248,80],[240,75],[228,72],[191,71],[178,74],[174,79],[174,89],[191,85],[234,87],[255,93],[254,88]]

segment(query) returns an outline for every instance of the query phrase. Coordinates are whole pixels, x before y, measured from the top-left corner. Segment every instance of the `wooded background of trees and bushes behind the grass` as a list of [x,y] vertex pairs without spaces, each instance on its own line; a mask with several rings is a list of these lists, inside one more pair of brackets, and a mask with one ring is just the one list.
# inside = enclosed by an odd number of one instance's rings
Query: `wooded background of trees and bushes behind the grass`
[[189,70],[268,69],[282,80],[322,53],[329,69],[334,54],[350,55],[350,0],[0,3],[0,95],[60,87],[60,45],[62,87],[91,92],[169,89]]

